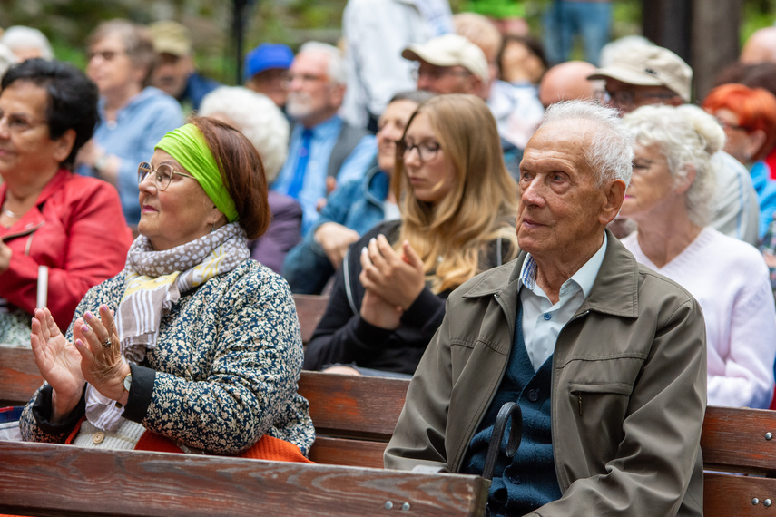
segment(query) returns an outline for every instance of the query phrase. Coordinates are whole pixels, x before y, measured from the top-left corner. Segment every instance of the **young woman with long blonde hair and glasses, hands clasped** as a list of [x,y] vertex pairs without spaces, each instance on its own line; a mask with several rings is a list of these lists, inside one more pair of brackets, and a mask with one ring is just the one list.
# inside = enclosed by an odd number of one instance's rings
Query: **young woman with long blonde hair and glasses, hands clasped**
[[402,219],[350,247],[308,344],[308,369],[411,375],[447,295],[516,257],[517,186],[478,97],[440,95],[417,107],[398,142],[391,188]]

